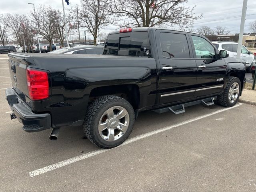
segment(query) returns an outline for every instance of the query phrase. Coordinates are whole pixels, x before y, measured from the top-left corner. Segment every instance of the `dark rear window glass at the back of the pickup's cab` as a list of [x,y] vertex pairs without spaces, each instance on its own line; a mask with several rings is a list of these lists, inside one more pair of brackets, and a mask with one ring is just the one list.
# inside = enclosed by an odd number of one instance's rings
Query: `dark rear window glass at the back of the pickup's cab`
[[150,57],[148,32],[110,34],[103,54]]

